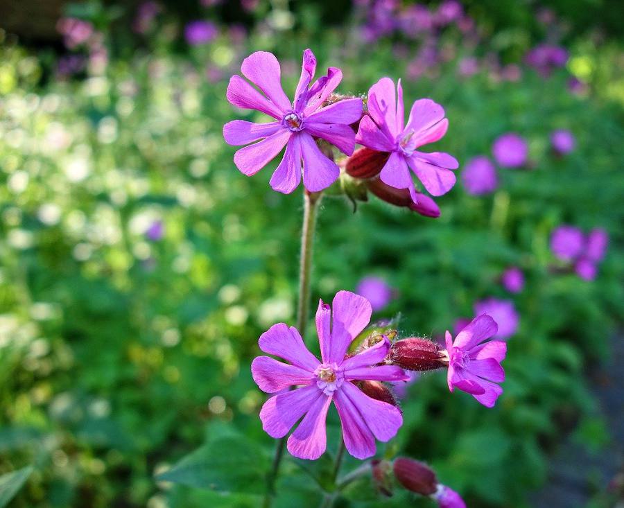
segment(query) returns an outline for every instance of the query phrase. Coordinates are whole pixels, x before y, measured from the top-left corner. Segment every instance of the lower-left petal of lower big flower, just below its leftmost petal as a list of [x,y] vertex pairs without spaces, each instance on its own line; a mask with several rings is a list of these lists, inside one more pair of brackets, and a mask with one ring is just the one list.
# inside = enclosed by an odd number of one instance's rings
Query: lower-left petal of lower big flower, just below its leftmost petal
[[319,398],[327,398],[316,385],[293,389],[268,399],[260,410],[263,430],[270,437],[284,437]]

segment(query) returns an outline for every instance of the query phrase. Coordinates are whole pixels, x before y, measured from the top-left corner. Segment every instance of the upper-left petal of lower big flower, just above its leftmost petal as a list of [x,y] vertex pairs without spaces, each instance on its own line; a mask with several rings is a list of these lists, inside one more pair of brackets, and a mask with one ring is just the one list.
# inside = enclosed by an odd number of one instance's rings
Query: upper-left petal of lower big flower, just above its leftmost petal
[[294,326],[288,328],[286,323],[277,323],[260,335],[258,345],[262,351],[270,355],[284,358],[292,365],[313,372],[320,364],[308,349],[301,335]]

